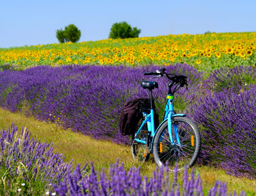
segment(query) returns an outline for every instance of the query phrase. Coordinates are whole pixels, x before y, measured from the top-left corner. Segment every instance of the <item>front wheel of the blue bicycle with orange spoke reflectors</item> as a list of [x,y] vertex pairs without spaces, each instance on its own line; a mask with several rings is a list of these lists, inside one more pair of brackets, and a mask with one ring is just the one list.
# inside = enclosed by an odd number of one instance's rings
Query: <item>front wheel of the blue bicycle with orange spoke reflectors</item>
[[[177,127],[180,143],[175,137],[174,126]],[[201,148],[201,136],[197,125],[189,118],[174,117],[171,132],[173,143],[170,141],[168,121],[159,127],[153,142],[155,162],[159,167],[163,167],[168,161],[169,169],[172,171],[176,164],[178,170],[193,166]]]

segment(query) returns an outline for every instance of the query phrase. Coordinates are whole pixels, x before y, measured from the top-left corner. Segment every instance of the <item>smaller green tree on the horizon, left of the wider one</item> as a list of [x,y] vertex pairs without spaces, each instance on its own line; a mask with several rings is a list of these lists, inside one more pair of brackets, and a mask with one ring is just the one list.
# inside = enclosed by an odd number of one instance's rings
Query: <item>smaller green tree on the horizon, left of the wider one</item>
[[81,31],[73,24],[65,27],[65,30],[57,30],[56,37],[60,43],[64,42],[77,42],[81,37]]

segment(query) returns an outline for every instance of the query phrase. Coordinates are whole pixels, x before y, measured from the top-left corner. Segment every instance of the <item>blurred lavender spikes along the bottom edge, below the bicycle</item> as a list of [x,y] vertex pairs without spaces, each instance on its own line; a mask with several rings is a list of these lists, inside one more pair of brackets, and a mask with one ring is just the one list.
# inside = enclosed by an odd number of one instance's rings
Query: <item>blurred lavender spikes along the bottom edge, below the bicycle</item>
[[[123,165],[119,166],[118,160],[116,164],[110,167],[109,178],[106,177],[104,169],[99,175],[94,170],[91,163],[91,172],[88,176],[82,176],[79,166],[76,167],[76,172],[68,174],[69,178],[66,181],[60,181],[54,184],[54,191],[60,195],[82,196],[82,195],[162,195],[162,196],[203,196],[202,179],[199,175],[195,178],[194,169],[192,169],[190,178],[185,169],[183,173],[182,192],[180,185],[177,183],[177,167],[174,170],[174,177],[170,181],[169,169],[156,168],[153,171],[153,176],[148,179],[140,175],[140,168],[130,168],[126,172]],[[98,177],[99,176],[99,177]],[[226,196],[227,183],[219,181],[215,182],[208,195],[211,196]],[[230,193],[230,196],[232,194]],[[234,192],[235,196],[236,193]],[[246,193],[241,191],[240,196],[245,196]]]

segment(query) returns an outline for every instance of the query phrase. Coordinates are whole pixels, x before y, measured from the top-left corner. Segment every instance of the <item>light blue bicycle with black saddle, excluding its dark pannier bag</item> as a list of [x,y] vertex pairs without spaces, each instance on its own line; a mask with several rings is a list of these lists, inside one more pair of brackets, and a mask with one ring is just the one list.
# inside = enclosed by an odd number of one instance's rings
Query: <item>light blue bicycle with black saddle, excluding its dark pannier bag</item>
[[[154,100],[152,90],[158,88],[155,81],[142,81],[141,86],[150,91],[150,109],[142,110],[136,133],[131,137],[131,150],[134,159],[145,162],[153,153],[154,160],[159,167],[168,161],[169,169],[174,171],[176,163],[178,170],[195,164],[200,148],[201,136],[197,125],[185,114],[175,114],[173,110],[173,94],[179,88],[188,86],[186,76],[168,74],[166,69],[147,72],[144,75],[155,77],[166,76],[171,82],[168,84],[167,104],[163,121],[155,130]],[[151,79],[152,79],[151,78]],[[173,87],[173,88],[172,88]]]

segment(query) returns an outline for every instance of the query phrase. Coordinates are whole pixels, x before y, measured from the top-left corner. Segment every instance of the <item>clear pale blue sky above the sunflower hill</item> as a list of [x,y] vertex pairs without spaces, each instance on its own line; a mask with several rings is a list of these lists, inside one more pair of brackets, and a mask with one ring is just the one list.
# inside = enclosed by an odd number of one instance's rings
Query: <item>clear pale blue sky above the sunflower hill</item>
[[74,24],[82,41],[108,39],[113,23],[139,37],[256,31],[255,0],[1,1],[0,47],[58,43],[56,30]]

